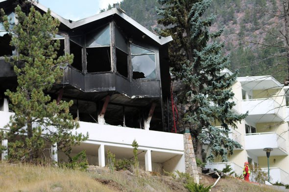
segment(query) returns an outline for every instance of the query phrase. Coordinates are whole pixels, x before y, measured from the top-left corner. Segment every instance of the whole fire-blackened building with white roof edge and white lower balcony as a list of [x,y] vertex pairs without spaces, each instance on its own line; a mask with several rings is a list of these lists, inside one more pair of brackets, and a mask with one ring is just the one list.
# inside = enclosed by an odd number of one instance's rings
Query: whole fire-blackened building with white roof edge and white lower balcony
[[[0,0],[15,21],[13,0]],[[40,12],[47,8],[39,3]],[[57,100],[73,100],[71,113],[79,120],[77,132],[89,139],[73,148],[85,149],[89,164],[105,166],[106,152],[117,158],[132,157],[132,141],[139,143],[140,166],[146,171],[185,171],[183,135],[169,132],[169,37],[159,37],[125,15],[118,4],[106,12],[80,21],[66,20],[51,12],[61,24],[58,56],[73,54],[73,63],[61,66],[63,79],[48,94]],[[17,54],[11,37],[0,24],[0,128],[9,110],[6,89],[16,87],[16,76],[4,55]],[[5,141],[2,141],[5,145]],[[51,149],[55,152],[56,148]],[[7,151],[6,151],[7,152]],[[51,152],[55,161],[63,154]],[[5,156],[2,153],[2,159]],[[160,169],[162,168],[162,169]]]

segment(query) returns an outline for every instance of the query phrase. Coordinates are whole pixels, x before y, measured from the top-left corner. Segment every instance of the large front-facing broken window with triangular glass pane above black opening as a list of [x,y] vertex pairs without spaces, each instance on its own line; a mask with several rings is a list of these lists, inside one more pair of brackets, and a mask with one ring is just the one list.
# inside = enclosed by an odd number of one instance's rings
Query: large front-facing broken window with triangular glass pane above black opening
[[111,71],[110,26],[86,35],[87,72]]

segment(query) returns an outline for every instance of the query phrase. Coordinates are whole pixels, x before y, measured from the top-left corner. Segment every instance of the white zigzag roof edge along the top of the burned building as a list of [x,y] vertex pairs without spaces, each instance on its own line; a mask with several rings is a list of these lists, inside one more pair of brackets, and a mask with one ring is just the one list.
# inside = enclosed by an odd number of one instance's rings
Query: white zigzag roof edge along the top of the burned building
[[[5,0],[3,0],[5,1]],[[41,10],[47,12],[48,8],[43,6],[40,3],[34,2],[34,5],[36,5],[38,8],[40,8]],[[57,18],[60,22],[62,22],[63,24],[65,24],[66,26],[68,26],[69,28],[73,29],[76,27],[79,27],[81,25],[93,22],[93,21],[97,21],[103,18],[106,18],[108,16],[117,14],[119,15],[122,19],[124,19],[125,21],[129,22],[130,24],[132,24],[133,26],[135,26],[137,29],[139,29],[140,31],[142,31],[143,33],[145,33],[145,35],[147,35],[148,37],[150,37],[151,39],[153,39],[155,42],[159,43],[160,45],[169,43],[172,41],[172,37],[161,37],[159,38],[159,36],[153,34],[152,32],[150,32],[148,29],[146,29],[144,26],[142,26],[140,23],[138,23],[137,21],[134,21],[133,19],[131,19],[130,17],[128,17],[127,15],[125,15],[123,12],[121,12],[120,10],[118,10],[117,8],[112,8],[111,10],[96,14],[94,16],[79,20],[79,21],[69,21],[67,19],[64,19],[63,17],[59,16],[58,14],[54,13],[53,11],[51,11],[51,16],[54,18]]]

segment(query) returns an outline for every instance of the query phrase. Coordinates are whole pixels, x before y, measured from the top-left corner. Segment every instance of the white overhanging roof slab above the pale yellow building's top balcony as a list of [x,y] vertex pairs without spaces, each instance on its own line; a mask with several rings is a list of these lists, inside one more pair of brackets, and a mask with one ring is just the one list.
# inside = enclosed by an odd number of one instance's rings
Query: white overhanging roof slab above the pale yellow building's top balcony
[[282,88],[283,84],[272,76],[238,77],[238,82],[250,90],[264,90]]

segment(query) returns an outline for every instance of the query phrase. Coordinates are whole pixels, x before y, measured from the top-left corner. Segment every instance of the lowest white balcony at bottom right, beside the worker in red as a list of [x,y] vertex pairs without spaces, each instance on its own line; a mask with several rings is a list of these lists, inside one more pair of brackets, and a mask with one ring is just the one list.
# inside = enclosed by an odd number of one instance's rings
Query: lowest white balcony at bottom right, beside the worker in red
[[[261,170],[268,172],[268,168],[262,168]],[[284,185],[289,185],[289,173],[280,168],[270,168],[270,182],[279,182]]]

